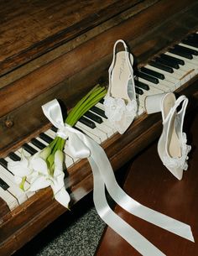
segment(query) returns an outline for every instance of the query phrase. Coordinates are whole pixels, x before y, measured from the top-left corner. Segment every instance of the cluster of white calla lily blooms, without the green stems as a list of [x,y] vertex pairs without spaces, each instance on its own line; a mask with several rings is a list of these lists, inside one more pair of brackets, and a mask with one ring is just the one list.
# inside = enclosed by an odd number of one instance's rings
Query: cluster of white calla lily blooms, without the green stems
[[[55,200],[59,201],[62,206],[68,208],[70,195],[65,190],[64,183],[64,154],[61,150],[55,152],[54,170],[50,170],[47,164],[47,158],[51,153],[49,147],[41,152],[34,154],[32,157],[26,157],[21,154],[20,161],[8,162],[8,170],[12,171],[15,182],[23,189],[23,183],[26,178],[29,178],[28,191],[39,191],[48,186],[51,186]],[[50,167],[51,168],[51,167]]]

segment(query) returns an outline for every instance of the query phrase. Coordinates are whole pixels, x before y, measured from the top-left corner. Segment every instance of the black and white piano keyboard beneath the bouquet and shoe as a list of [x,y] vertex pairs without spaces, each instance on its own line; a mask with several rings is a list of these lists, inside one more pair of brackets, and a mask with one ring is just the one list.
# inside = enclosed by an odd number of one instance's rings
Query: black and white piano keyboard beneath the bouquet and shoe
[[[180,86],[190,81],[198,73],[198,34],[190,34],[180,44],[159,55],[140,68],[135,76],[136,93],[138,98],[138,116],[145,112],[144,99],[148,95],[175,91]],[[138,117],[137,117],[138,118]],[[115,128],[107,120],[102,102],[98,102],[75,126],[86,133],[98,144],[102,144],[116,133]],[[8,204],[10,210],[23,204],[34,195],[33,192],[23,192],[14,183],[13,174],[8,170],[9,161],[20,159],[23,154],[30,156],[44,149],[55,138],[55,128],[50,128],[40,133],[38,138],[33,138],[29,143],[23,144],[21,149],[8,154],[5,159],[0,159],[0,196]],[[79,159],[72,158],[70,149],[65,145],[65,165],[70,168]],[[25,181],[25,187],[29,184]]]

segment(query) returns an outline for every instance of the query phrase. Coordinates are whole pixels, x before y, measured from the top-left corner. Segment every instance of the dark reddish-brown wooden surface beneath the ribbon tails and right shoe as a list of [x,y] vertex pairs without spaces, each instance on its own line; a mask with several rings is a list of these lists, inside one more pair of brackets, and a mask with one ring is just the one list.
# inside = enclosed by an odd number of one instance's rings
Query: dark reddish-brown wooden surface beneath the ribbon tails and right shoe
[[[145,222],[116,206],[115,212],[145,238],[169,256],[198,255],[198,114],[192,112],[185,120],[185,132],[192,145],[189,170],[176,180],[160,162],[157,143],[135,159],[124,183],[124,190],[135,200],[169,217],[190,224],[195,238],[192,243],[171,232]],[[110,227],[103,234],[96,256],[138,256],[133,247]],[[152,256],[152,255],[151,255]]]

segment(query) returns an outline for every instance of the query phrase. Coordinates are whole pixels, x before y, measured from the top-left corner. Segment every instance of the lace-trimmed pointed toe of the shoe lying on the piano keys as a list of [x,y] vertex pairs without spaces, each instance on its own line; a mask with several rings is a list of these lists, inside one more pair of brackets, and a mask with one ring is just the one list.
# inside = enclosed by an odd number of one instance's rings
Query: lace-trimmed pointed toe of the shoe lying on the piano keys
[[104,107],[107,118],[121,134],[126,131],[137,114],[137,102],[135,100],[126,105],[121,98],[106,96]]

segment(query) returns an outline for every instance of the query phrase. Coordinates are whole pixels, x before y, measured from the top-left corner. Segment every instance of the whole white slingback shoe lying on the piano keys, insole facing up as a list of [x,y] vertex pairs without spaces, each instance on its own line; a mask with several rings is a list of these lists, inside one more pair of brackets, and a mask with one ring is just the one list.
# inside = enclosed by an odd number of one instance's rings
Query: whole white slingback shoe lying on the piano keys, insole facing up
[[[124,51],[116,52],[118,43]],[[113,47],[112,64],[109,67],[109,87],[104,100],[105,114],[117,132],[124,133],[137,114],[137,102],[133,79],[133,55],[122,39]]]

